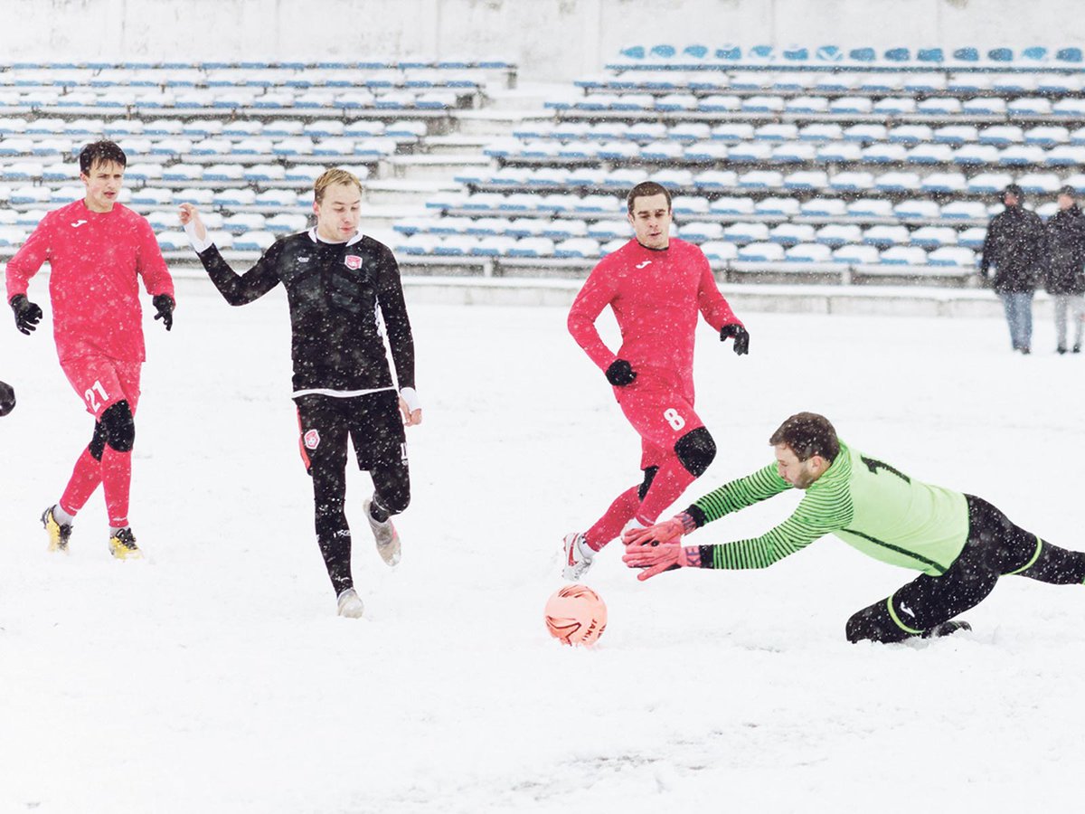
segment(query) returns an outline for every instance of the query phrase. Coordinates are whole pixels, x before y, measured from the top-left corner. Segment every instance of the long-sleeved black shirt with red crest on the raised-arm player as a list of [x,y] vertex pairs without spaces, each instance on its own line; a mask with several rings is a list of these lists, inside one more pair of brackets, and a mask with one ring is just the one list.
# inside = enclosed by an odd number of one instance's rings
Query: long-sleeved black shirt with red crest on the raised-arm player
[[383,243],[361,233],[346,243],[327,243],[310,229],[273,243],[243,275],[214,245],[199,256],[230,305],[251,303],[280,282],[286,288],[294,395],[394,386],[378,309],[399,387],[414,386],[414,340],[399,267]]

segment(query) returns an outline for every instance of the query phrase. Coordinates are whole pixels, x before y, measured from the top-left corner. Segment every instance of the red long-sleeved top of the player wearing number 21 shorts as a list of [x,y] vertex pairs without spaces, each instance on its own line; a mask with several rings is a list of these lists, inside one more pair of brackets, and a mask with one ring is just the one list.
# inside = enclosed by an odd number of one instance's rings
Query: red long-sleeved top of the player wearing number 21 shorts
[[152,296],[174,296],[173,278],[146,218],[123,204],[91,212],[82,201],[50,212],[8,263],[9,303],[26,293],[46,260],[52,268],[49,294],[61,360],[93,355],[143,361],[136,276]]

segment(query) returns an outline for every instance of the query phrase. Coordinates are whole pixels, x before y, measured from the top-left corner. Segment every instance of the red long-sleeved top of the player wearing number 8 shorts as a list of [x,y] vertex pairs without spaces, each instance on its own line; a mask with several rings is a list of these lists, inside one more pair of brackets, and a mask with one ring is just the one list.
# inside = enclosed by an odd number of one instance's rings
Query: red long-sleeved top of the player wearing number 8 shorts
[[[622,331],[617,354],[603,344],[595,322],[608,305]],[[601,370],[625,359],[693,398],[697,313],[717,331],[741,325],[731,311],[704,253],[672,238],[667,249],[646,249],[636,239],[591,270],[569,311],[569,332]]]

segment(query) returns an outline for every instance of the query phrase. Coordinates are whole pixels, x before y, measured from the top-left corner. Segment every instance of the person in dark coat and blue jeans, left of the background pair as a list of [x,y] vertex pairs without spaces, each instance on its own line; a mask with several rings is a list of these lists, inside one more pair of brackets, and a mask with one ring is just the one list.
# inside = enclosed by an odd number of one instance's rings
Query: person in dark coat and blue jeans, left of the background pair
[[983,241],[980,275],[988,279],[994,266],[994,289],[1006,308],[1014,351],[1032,351],[1032,295],[1046,265],[1044,221],[1021,204],[1024,193],[1011,183],[1003,193],[1006,209],[991,219]]

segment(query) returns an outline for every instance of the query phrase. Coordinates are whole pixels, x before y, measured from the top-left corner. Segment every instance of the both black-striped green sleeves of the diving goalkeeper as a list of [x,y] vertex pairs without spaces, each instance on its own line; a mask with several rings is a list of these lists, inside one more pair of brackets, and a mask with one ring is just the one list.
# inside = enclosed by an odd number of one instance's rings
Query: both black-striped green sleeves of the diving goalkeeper
[[[768,568],[788,555],[805,548],[818,537],[845,529],[852,521],[854,511],[846,474],[843,472],[840,474],[844,476],[819,479],[814,486],[806,491],[791,517],[760,537],[739,539],[723,545],[701,546],[701,568]],[[775,484],[769,475],[775,479]],[[738,484],[758,478],[761,479],[757,481],[758,491],[738,491]],[[736,487],[732,489],[735,494],[729,496],[732,499],[744,500],[744,503],[719,503],[718,497],[717,503],[709,501],[709,498],[732,485]],[[735,511],[743,506],[750,506],[756,500],[770,497],[771,495],[766,493],[774,485],[776,492],[773,494],[779,494],[788,488],[787,482],[777,473],[775,465],[716,489],[716,492],[698,500],[694,506],[699,507],[709,520],[714,520],[728,511]]]

